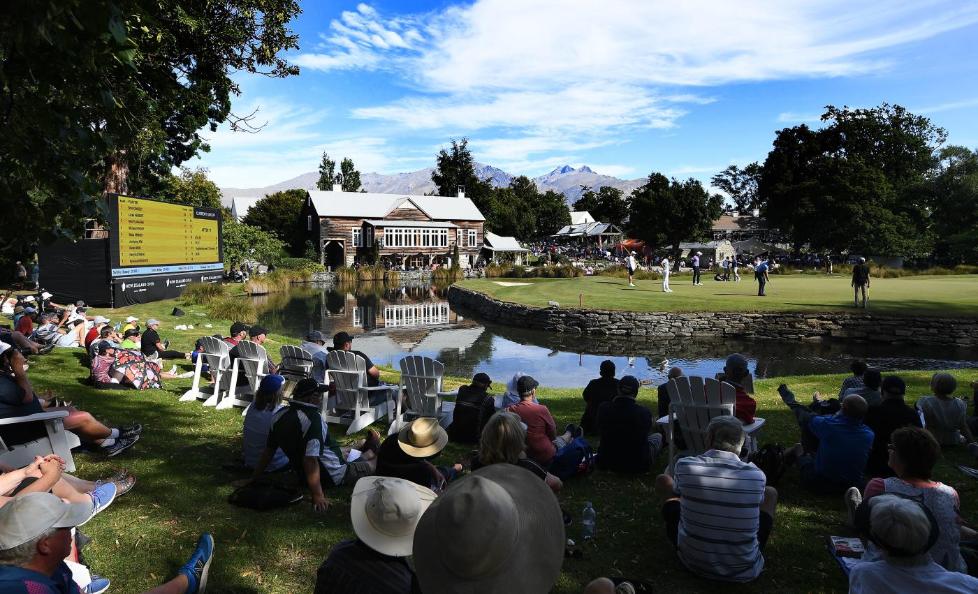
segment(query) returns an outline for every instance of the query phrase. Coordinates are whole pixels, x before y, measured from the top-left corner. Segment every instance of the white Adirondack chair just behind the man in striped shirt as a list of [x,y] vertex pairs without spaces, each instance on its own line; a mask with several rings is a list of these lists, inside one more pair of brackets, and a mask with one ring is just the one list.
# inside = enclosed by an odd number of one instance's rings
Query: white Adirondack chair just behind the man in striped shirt
[[[669,415],[656,422],[663,425],[669,437],[669,474],[673,474],[675,462],[682,456],[698,455],[706,451],[706,428],[715,417],[733,415],[735,389],[727,382],[697,376],[681,376],[669,380]],[[679,424],[687,448],[676,450],[675,436],[672,435],[672,420]],[[757,433],[765,420],[754,419],[744,425],[748,454],[757,450]]]

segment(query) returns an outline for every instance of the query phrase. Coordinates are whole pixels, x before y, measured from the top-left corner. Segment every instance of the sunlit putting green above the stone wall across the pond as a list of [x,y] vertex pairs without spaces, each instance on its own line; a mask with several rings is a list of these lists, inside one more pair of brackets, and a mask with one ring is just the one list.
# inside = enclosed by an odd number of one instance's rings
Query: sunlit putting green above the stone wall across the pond
[[[503,286],[500,282],[526,282]],[[672,293],[662,292],[661,280],[580,276],[577,278],[475,278],[459,286],[481,291],[503,301],[547,307],[556,301],[576,308],[583,296],[585,308],[638,312],[695,311],[852,311],[849,276],[773,275],[767,297],[757,296],[753,275],[739,282],[717,282],[703,275],[703,286],[692,286],[691,276],[674,277]],[[978,275],[905,276],[873,278],[869,311],[904,316],[978,317]]]

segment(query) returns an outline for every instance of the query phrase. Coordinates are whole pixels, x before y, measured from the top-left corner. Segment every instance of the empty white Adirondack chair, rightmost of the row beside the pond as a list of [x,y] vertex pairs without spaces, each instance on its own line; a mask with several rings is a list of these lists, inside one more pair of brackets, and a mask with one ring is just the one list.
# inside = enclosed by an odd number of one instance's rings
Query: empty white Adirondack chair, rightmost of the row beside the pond
[[[428,357],[411,355],[400,361],[401,381],[398,385],[400,398],[397,399],[397,412],[390,423],[387,435],[401,430],[411,417],[433,416],[445,428],[452,424],[455,403],[445,402],[446,396],[456,396],[458,390],[445,392],[441,380],[445,375],[445,365]],[[408,409],[402,411],[405,398]]]

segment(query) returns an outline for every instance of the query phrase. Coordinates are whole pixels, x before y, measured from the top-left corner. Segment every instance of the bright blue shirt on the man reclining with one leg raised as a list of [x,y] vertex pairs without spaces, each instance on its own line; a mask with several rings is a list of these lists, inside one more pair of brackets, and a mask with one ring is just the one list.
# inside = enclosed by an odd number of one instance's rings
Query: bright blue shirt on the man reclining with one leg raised
[[835,483],[858,485],[872,449],[872,430],[845,414],[813,417],[808,428],[819,438],[816,472]]

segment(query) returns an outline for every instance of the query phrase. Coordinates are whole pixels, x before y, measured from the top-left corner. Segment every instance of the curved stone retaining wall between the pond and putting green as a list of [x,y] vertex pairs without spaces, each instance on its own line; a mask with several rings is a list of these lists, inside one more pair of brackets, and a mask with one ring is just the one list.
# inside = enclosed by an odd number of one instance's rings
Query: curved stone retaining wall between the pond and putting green
[[726,336],[867,342],[978,344],[978,319],[911,318],[854,312],[614,312],[537,308],[452,285],[448,300],[493,321],[553,332],[656,336]]

